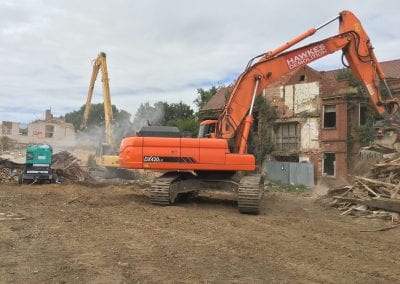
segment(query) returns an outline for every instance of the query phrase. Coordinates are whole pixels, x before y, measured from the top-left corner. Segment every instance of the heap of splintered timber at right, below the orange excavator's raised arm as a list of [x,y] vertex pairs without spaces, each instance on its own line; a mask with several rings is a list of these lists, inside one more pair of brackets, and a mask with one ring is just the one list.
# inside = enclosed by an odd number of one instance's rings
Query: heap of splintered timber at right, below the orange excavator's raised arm
[[386,159],[371,168],[368,177],[353,176],[353,183],[329,191],[332,205],[342,215],[380,217],[400,222],[400,158]]

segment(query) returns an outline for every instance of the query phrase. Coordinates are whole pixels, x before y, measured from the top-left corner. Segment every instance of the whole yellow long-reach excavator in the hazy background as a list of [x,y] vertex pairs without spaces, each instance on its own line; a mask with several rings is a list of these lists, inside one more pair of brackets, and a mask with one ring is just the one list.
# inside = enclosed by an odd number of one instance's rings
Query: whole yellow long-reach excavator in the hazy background
[[95,162],[98,167],[101,168],[118,168],[119,157],[115,148],[115,141],[112,135],[111,121],[113,118],[112,105],[111,105],[111,94],[110,85],[107,71],[106,54],[100,52],[97,58],[93,61],[92,77],[90,79],[88,96],[86,99],[85,112],[83,114],[81,130],[87,128],[87,121],[89,118],[90,105],[93,97],[94,84],[97,79],[97,75],[101,71],[101,81],[103,89],[103,100],[104,100],[104,120],[105,120],[105,137],[106,142],[101,142],[99,147],[96,149]]

